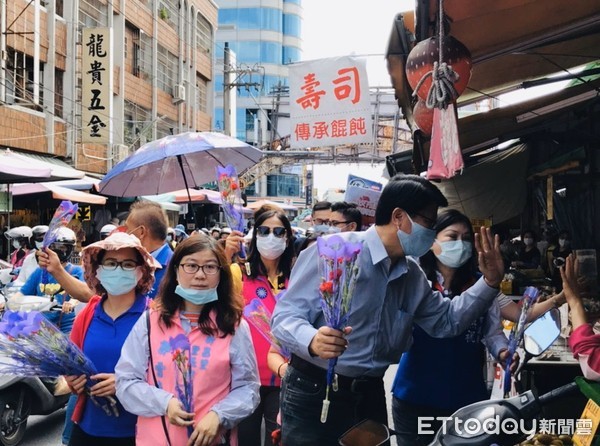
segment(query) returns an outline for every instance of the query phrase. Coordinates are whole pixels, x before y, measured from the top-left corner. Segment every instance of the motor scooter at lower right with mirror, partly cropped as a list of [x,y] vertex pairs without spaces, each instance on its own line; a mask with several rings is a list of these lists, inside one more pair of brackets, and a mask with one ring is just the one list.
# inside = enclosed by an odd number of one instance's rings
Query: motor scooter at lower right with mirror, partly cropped
[[[523,344],[528,358],[546,351],[560,334],[560,314],[549,310],[524,331]],[[507,399],[479,401],[454,412],[437,432],[430,446],[512,446],[526,439],[544,405],[576,392],[575,382],[536,396],[531,390]],[[507,423],[516,424],[507,427]],[[387,426],[364,420],[339,438],[342,446],[378,446],[397,432]]]

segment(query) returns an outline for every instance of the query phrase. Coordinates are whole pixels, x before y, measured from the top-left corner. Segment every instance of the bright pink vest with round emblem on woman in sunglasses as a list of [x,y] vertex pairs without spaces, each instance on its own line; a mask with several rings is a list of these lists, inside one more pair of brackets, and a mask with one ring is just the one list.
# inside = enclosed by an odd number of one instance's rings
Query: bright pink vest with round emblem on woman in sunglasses
[[[248,305],[254,298],[259,298],[267,310],[273,314],[273,309],[277,301],[267,278],[259,276],[256,279],[252,279],[244,275],[243,281],[242,295],[244,296],[244,305]],[[252,322],[248,321],[248,325],[250,326],[250,334],[252,335],[252,343],[254,344],[254,351],[256,353],[260,384],[262,386],[281,386],[281,380],[267,365],[267,354],[269,353],[271,343],[260,334],[260,331],[256,329]]]

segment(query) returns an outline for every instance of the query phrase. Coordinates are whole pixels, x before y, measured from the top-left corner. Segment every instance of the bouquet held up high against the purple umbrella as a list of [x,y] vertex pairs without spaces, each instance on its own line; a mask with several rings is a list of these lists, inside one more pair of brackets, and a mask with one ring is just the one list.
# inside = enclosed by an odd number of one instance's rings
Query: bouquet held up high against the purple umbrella
[[[242,210],[242,192],[235,167],[228,164],[225,167],[217,166],[217,184],[221,193],[221,208],[227,220],[227,225],[236,231],[244,232],[245,222]],[[240,245],[238,254],[246,258],[244,244]]]

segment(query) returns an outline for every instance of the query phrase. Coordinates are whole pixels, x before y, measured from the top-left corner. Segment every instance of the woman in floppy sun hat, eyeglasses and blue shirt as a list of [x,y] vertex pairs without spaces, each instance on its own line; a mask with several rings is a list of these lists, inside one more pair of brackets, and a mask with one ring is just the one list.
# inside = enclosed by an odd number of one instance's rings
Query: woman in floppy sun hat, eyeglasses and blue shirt
[[82,252],[85,279],[96,293],[77,315],[71,340],[90,358],[98,370],[91,377],[67,376],[78,395],[72,416],[76,423],[70,446],[134,446],[136,416],[117,402],[119,416],[109,416],[84,393],[86,380],[97,383],[91,395],[114,396],[115,365],[121,348],[149,302],[147,293],[154,283],[158,263],[137,237],[117,232],[92,243]]

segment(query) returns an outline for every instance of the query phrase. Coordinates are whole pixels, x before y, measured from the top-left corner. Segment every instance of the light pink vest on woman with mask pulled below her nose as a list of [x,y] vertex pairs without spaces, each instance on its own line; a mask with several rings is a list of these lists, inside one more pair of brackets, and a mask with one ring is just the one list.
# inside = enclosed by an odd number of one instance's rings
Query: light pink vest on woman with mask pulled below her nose
[[[158,321],[159,313],[150,312],[151,348],[154,360],[154,371],[161,389],[177,395],[176,390],[176,366],[173,362],[169,339],[178,334],[185,334],[180,325],[179,313],[173,317],[173,325],[170,328]],[[197,328],[188,335],[192,346],[191,364],[193,380],[194,420],[197,423],[210,409],[231,391],[231,365],[229,361],[229,346],[231,336],[224,338],[206,336]],[[154,384],[152,371],[148,370],[146,377],[148,383]],[[187,444],[187,428],[174,426],[165,417],[171,446]],[[217,435],[214,445],[219,444],[221,435],[225,434],[222,429]],[[138,417],[136,426],[136,444],[144,446],[166,446],[161,417]],[[237,446],[237,430],[231,432],[230,444]]]

